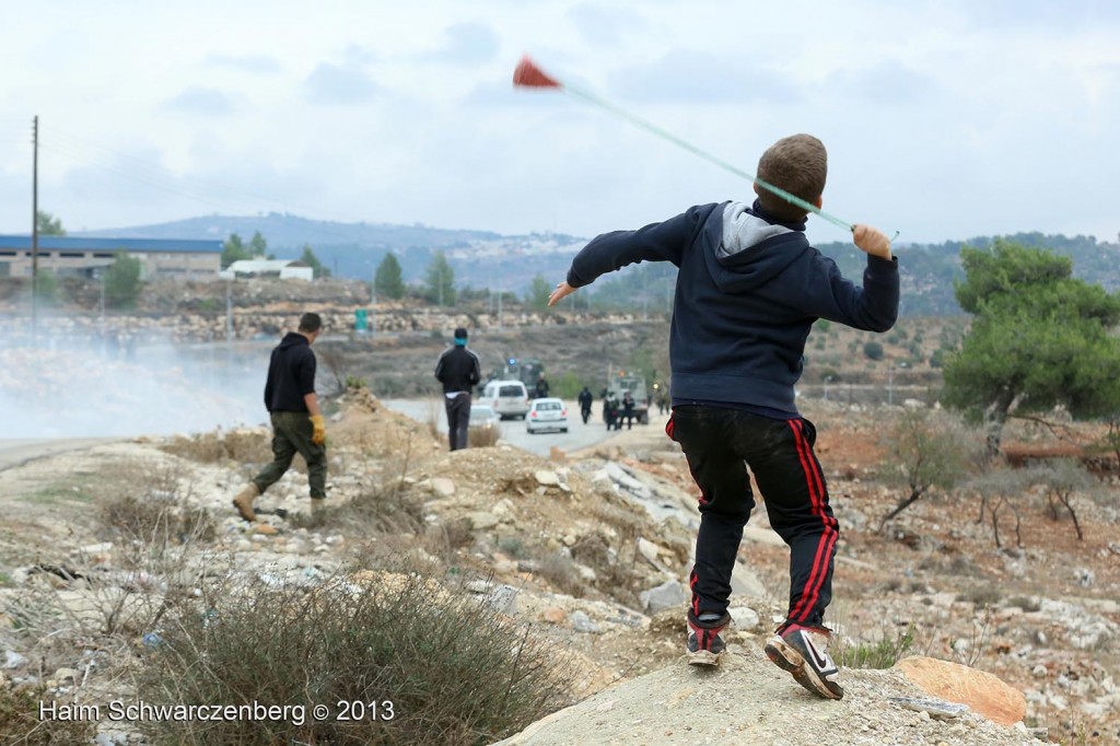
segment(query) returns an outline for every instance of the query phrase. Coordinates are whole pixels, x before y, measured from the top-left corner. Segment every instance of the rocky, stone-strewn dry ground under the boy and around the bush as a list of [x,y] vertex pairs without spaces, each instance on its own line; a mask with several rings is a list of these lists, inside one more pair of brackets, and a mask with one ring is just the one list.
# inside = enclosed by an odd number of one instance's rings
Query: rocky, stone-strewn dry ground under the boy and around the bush
[[[454,569],[572,651],[579,703],[511,743],[1023,744],[1044,733],[1120,743],[1114,481],[1075,497],[1081,541],[1038,494],[1016,505],[1021,548],[997,549],[968,494],[934,494],[880,529],[899,498],[884,479],[880,437],[899,410],[806,407],[843,530],[834,652],[886,645],[892,658],[989,671],[1026,697],[1024,725],[999,726],[903,708],[890,698],[921,691],[897,671],[849,668],[849,696],[825,702],[767,663],[759,651],[784,609],[787,553],[764,511],[740,551],[726,665],[684,665],[696,487],[663,418],[547,460],[503,444],[448,454],[428,426],[364,392],[334,405],[334,509],[315,517],[296,472],[259,501],[256,524],[230,507],[268,458],[263,429],[109,442],[0,472],[0,684],[40,682],[59,699],[127,696],[128,663],[158,626],[158,604],[139,599],[189,590],[215,562],[314,584],[390,554]],[[347,512],[371,493],[376,514]],[[195,516],[177,525],[196,541],[189,551],[171,541],[161,561],[138,565],[139,538],[121,511],[151,505]],[[36,615],[48,606],[50,624]],[[101,735],[129,738],[119,725]]]

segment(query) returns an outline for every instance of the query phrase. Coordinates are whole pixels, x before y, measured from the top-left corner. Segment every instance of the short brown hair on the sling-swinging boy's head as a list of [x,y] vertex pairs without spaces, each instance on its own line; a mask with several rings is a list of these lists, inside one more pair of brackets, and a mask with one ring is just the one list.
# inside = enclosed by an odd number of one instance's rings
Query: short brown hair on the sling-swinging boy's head
[[[815,203],[824,192],[829,171],[824,143],[812,134],[791,134],[782,138],[758,159],[758,178],[785,189],[808,203]],[[780,221],[795,223],[809,214],[766,187],[756,187],[763,209]]]

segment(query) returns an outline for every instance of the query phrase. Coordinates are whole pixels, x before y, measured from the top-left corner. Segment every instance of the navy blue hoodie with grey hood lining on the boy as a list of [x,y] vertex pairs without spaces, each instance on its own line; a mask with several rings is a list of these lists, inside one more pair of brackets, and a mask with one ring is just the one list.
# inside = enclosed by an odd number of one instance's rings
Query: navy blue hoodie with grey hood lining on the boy
[[864,287],[809,245],[805,224],[756,201],[698,205],[637,231],[605,233],[572,260],[568,285],[641,261],[679,268],[669,356],[674,404],[796,417],[793,386],[819,318],[886,332],[898,317],[898,260],[868,255]]

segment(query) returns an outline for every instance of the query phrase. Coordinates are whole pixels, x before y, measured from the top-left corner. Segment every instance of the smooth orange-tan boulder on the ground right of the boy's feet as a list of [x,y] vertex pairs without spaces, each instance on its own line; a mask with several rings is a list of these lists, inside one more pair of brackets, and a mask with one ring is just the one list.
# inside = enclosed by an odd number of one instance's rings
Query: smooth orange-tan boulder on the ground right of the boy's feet
[[926,693],[968,705],[992,722],[1015,725],[1027,711],[1023,692],[987,671],[922,655],[904,658],[895,668]]

